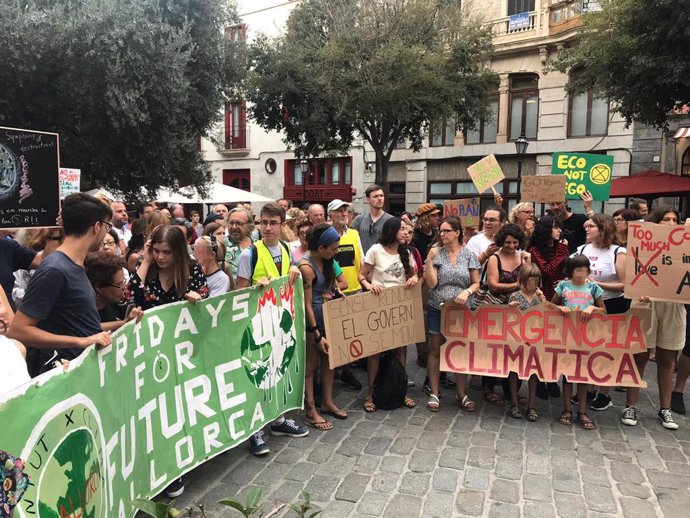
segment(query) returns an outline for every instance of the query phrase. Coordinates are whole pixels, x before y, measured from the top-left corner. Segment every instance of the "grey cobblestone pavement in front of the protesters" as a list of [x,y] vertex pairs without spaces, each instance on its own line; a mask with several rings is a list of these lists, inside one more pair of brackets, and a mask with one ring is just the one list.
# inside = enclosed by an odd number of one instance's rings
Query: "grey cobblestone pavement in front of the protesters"
[[[676,416],[675,432],[661,427],[655,370],[650,363],[637,426],[620,423],[625,394],[612,391],[614,407],[590,411],[597,428],[585,431],[556,422],[560,399],[537,400],[541,418],[528,423],[473,389],[476,412],[459,410],[454,392],[442,389],[433,414],[424,372],[409,363],[414,410],[367,414],[364,391],[339,388],[347,420],[302,439],[267,435],[271,453],[262,458],[242,444],[190,473],[178,503],[203,503],[209,518],[239,516],[217,500],[260,487],[265,509],[306,490],[323,518],[690,516],[690,419]],[[365,381],[365,372],[354,372]],[[292,417],[301,422],[302,414]]]

